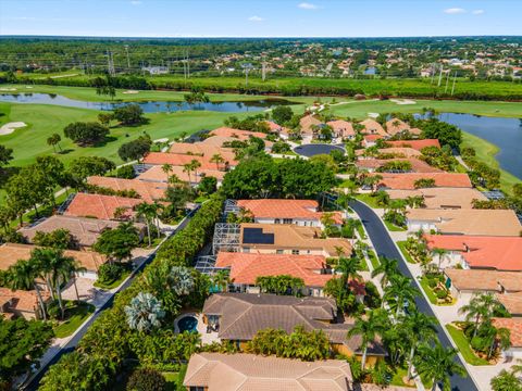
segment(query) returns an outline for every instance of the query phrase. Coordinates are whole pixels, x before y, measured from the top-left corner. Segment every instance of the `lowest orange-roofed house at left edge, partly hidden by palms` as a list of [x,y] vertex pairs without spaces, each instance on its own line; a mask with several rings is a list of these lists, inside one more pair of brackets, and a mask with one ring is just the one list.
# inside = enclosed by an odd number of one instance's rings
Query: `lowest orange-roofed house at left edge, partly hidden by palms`
[[[49,292],[40,290],[40,298],[47,305],[51,295]],[[12,319],[13,317],[23,317],[27,320],[39,319],[41,316],[38,294],[35,290],[11,290],[0,287],[0,317]]]

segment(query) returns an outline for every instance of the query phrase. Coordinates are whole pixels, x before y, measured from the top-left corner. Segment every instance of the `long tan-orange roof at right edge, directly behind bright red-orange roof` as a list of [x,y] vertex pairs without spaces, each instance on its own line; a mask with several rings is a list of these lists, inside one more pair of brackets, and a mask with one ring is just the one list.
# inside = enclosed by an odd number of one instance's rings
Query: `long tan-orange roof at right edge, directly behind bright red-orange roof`
[[439,234],[520,236],[522,226],[511,210],[431,210],[415,209],[407,212],[408,219],[430,222]]

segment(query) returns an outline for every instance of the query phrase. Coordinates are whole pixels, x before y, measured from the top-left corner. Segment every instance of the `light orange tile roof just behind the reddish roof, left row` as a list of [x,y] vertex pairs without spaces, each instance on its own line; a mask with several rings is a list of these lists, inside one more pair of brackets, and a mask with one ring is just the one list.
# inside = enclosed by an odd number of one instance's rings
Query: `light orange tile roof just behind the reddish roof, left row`
[[161,200],[165,197],[166,187],[150,181],[138,179],[122,179],[102,176],[91,176],[87,178],[87,184],[109,188],[112,190],[134,190],[141,197],[141,202],[153,203],[154,200]]

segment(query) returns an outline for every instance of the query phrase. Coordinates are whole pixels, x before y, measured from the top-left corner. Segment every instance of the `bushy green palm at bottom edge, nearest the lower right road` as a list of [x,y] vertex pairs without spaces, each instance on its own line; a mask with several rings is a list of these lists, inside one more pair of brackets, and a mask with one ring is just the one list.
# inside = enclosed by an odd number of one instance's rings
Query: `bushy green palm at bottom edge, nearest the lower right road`
[[419,348],[415,368],[422,377],[433,381],[432,391],[437,389],[439,381],[445,386],[445,390],[449,389],[449,378],[453,375],[467,376],[464,368],[455,361],[456,355],[456,349],[446,349],[439,342]]

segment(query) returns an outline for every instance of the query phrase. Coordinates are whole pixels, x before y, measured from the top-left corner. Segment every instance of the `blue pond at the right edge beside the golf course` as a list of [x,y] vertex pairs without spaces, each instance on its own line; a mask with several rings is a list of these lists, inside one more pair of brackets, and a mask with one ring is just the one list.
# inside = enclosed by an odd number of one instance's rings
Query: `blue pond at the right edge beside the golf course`
[[438,118],[497,146],[500,151],[495,159],[500,167],[522,179],[522,118],[456,113],[443,113]]

